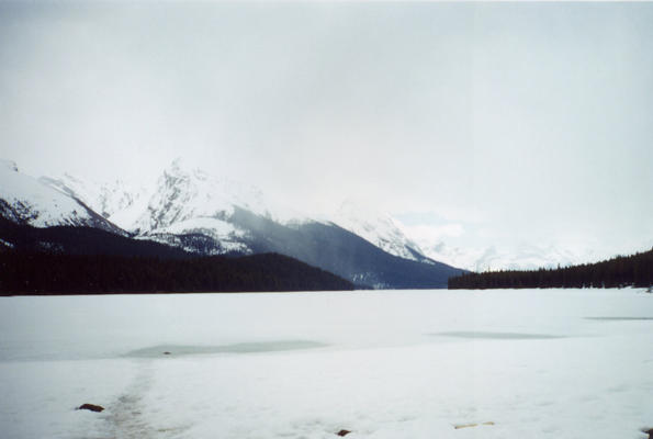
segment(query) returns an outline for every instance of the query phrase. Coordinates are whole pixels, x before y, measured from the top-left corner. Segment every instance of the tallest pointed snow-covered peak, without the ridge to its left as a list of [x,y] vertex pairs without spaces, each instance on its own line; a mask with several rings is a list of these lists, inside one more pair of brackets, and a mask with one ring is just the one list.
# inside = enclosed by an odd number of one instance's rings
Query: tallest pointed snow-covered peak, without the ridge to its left
[[272,203],[250,184],[215,177],[177,159],[159,177],[146,207],[127,229],[204,254],[251,254],[250,233],[234,219],[238,210],[278,224],[308,221]]

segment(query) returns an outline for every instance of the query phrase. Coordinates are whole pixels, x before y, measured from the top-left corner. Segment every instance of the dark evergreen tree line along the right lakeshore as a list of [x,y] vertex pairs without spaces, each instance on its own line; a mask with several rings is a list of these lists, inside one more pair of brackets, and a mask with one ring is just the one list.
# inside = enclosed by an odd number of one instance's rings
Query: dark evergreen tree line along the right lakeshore
[[558,269],[465,273],[449,289],[622,288],[653,285],[653,248],[632,256]]

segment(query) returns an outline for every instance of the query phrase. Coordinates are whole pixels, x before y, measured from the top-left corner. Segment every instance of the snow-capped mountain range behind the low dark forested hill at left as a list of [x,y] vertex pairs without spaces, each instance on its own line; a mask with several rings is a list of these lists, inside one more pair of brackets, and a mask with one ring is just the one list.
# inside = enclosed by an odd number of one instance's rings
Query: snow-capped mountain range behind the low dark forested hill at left
[[[345,205],[333,218],[312,218],[271,202],[251,185],[181,160],[162,171],[151,191],[70,175],[35,179],[13,162],[0,165],[0,246],[5,248],[106,254],[90,228],[126,239],[109,246],[124,255],[145,251],[137,249],[139,243],[159,245],[147,244],[147,255],[275,252],[376,289],[446,288],[449,277],[461,273],[426,256],[392,217],[365,216],[356,207]],[[75,228],[85,232],[75,234]]]

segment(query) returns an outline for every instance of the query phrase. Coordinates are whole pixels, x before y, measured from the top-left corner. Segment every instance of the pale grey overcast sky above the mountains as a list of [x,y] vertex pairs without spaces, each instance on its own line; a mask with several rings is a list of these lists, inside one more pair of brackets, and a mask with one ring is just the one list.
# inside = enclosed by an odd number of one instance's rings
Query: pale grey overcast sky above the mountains
[[642,250],[652,23],[652,3],[0,3],[0,156],[139,182],[183,156],[308,211]]

